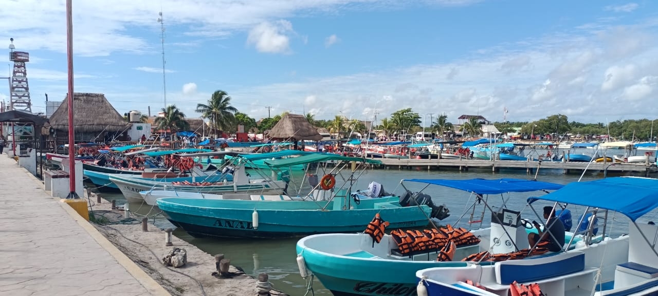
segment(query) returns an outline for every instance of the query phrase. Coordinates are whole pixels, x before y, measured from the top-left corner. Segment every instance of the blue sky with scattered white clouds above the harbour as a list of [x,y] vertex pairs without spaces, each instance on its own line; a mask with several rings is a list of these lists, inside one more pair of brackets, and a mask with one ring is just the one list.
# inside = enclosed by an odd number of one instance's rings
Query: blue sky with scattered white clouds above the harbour
[[[32,111],[66,96],[64,0],[3,0]],[[259,120],[658,118],[658,1],[73,0],[74,91],[156,114],[223,90]],[[159,12],[163,13],[164,59]],[[7,49],[9,51],[9,49]],[[7,68],[11,66],[7,59]],[[9,71],[9,70],[7,70]],[[0,76],[6,76],[0,71]],[[164,86],[164,87],[163,87]],[[9,100],[8,87],[0,99]],[[507,112],[505,112],[507,110]]]

